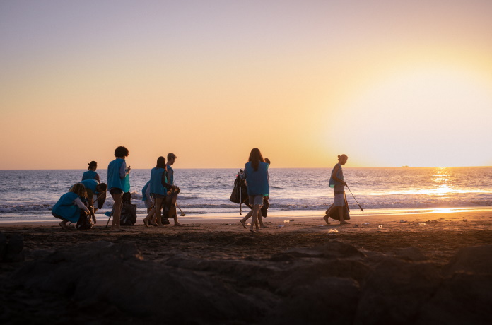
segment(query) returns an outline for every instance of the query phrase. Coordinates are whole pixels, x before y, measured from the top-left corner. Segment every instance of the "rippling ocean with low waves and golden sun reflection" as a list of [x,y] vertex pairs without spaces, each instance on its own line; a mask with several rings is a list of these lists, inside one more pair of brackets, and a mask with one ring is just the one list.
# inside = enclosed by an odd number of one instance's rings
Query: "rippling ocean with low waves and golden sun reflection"
[[[331,168],[271,168],[269,211],[324,211],[333,201]],[[84,170],[0,170],[0,222],[54,220],[51,208],[81,180]],[[97,170],[106,182],[107,170]],[[239,215],[229,201],[235,169],[175,168],[177,203],[188,215]],[[132,203],[144,215],[141,189],[151,170],[131,170]],[[477,208],[492,206],[492,167],[344,167],[344,177],[366,210]],[[352,213],[358,206],[346,189]],[[111,196],[96,215],[110,211]],[[244,206],[243,206],[244,208]],[[390,211],[390,210],[387,210]],[[292,214],[292,213],[290,213]]]

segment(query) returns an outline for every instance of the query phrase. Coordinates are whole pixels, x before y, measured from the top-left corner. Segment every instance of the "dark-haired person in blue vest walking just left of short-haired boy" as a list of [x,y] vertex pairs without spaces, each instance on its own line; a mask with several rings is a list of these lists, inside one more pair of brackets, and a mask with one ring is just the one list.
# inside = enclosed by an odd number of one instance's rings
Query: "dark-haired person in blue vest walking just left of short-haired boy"
[[168,184],[168,173],[167,166],[165,165],[165,158],[157,158],[156,167],[151,170],[151,196],[155,202],[154,207],[144,218],[144,225],[153,225],[155,227],[163,227],[160,209],[163,206],[166,194],[168,194],[168,189],[174,188],[174,186]]

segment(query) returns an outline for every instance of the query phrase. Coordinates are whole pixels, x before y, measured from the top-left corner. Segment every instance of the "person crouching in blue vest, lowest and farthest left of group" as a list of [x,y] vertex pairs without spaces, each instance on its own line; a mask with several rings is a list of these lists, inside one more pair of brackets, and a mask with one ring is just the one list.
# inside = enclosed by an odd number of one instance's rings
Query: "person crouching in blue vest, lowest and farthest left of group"
[[76,223],[81,216],[81,211],[90,213],[87,206],[82,203],[82,200],[87,199],[86,187],[83,184],[77,183],[71,187],[68,193],[63,194],[57,203],[52,208],[52,215],[55,218],[61,219],[60,227],[64,230],[69,230],[66,223]]

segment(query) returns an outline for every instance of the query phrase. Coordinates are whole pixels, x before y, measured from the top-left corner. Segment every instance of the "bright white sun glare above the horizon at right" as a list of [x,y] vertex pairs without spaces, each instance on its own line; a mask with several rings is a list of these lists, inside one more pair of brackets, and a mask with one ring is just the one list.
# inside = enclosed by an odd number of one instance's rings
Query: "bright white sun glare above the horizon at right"
[[[452,69],[406,71],[371,85],[331,116],[327,145],[362,164],[488,165],[492,80]],[[445,191],[445,189],[443,189]]]

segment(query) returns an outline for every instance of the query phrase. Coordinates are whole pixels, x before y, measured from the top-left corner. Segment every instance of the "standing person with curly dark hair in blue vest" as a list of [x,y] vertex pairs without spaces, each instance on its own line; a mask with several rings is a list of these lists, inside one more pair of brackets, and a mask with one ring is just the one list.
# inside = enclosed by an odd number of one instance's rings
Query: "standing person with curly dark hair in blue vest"
[[122,212],[122,199],[124,189],[127,187],[125,178],[129,175],[131,167],[128,166],[125,158],[129,155],[128,149],[119,146],[115,149],[116,159],[110,162],[107,166],[107,187],[110,189],[110,194],[115,201],[113,206],[113,220],[111,223],[111,231],[122,231],[119,227],[119,217]]

